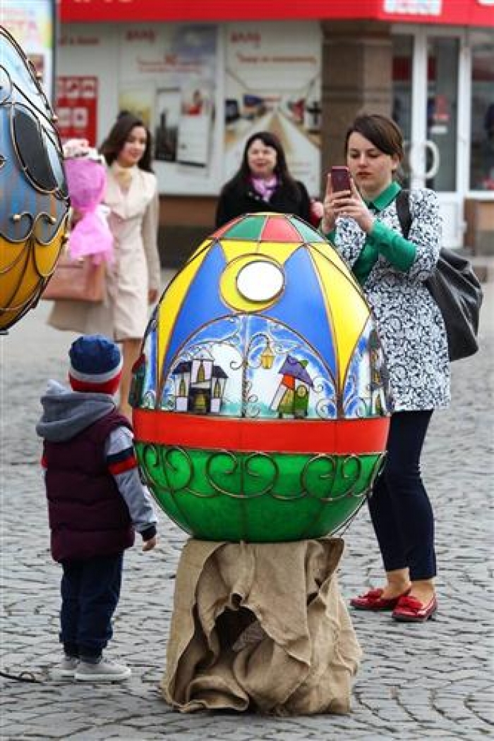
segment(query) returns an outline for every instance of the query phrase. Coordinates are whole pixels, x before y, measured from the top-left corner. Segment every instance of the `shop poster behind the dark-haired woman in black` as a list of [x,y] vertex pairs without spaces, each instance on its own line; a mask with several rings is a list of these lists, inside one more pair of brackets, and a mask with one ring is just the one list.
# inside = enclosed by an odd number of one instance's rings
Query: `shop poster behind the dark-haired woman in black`
[[[302,28],[303,27],[303,28]],[[226,27],[225,172],[237,171],[246,140],[269,130],[289,170],[309,193],[320,189],[321,37],[317,22]]]

